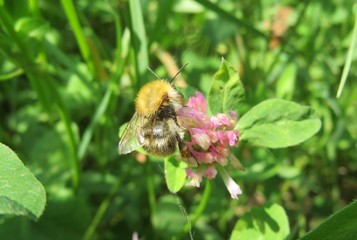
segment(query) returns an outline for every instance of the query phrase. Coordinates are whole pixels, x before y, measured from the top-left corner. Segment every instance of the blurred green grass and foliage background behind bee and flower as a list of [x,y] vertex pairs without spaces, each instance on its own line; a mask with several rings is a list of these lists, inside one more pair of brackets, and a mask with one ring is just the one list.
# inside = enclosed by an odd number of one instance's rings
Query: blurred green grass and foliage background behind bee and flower
[[194,214],[205,184],[170,194],[162,161],[119,156],[118,132],[154,79],[146,66],[170,78],[188,63],[176,85],[207,95],[221,57],[246,88],[240,116],[277,97],[312,106],[323,126],[299,146],[235,149],[243,195],[214,180],[194,238],[227,239],[266,202],[302,237],[357,195],[356,15],[353,0],[0,0],[0,141],[48,198],[37,222],[2,219],[1,239],[187,239],[180,205]]

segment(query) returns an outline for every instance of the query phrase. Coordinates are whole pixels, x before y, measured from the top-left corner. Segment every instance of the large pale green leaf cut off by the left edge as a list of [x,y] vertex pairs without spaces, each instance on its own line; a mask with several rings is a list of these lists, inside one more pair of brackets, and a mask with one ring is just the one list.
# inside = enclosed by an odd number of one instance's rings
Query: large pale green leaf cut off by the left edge
[[0,143],[0,214],[37,220],[45,204],[46,192],[41,183],[10,148]]

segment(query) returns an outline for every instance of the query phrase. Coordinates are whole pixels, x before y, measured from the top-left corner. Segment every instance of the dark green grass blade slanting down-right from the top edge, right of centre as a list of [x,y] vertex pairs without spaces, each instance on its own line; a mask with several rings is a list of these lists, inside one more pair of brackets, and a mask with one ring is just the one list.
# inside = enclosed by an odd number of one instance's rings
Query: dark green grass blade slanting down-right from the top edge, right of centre
[[254,33],[258,37],[264,38],[266,40],[268,39],[268,37],[263,32],[261,32],[258,29],[254,28],[252,25],[248,24],[244,20],[241,20],[241,19],[233,16],[229,12],[227,12],[227,11],[223,10],[222,8],[218,7],[216,4],[214,4],[214,3],[212,3],[212,2],[210,2],[208,0],[196,0],[196,2],[199,2],[200,4],[202,4],[207,9],[210,9],[213,12],[217,13],[222,18],[225,18],[226,20],[228,20],[228,21],[230,21],[230,22],[232,22],[234,24],[237,24],[238,26],[243,27],[246,30]]

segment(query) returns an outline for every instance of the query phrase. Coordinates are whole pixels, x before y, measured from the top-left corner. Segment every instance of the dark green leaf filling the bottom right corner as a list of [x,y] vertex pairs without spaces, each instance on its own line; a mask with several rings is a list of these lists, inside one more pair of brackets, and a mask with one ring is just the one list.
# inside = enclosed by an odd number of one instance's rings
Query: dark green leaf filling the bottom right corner
[[301,240],[357,239],[357,201],[333,214]]

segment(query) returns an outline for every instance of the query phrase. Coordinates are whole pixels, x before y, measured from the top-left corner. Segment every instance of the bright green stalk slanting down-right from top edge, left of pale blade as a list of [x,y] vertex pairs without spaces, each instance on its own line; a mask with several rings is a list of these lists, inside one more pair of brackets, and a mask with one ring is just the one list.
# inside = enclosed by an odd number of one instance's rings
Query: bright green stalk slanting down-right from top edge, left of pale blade
[[79,22],[78,15],[74,8],[74,4],[72,0],[61,0],[64,12],[68,18],[69,24],[74,32],[74,36],[76,38],[77,44],[79,46],[79,50],[84,61],[87,64],[88,69],[94,74],[95,68],[93,64],[93,60],[91,59],[90,48],[85,39],[82,26]]

